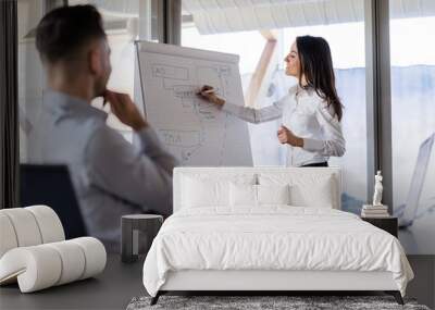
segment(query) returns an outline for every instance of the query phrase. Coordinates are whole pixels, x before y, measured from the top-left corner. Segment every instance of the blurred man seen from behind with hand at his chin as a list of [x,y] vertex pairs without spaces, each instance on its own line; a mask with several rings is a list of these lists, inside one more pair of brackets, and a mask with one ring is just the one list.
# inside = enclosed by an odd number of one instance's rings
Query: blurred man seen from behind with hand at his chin
[[[123,214],[172,213],[175,159],[128,95],[105,88],[110,48],[95,7],[49,12],[37,27],[36,47],[48,89],[36,124],[39,152],[30,160],[69,166],[88,234],[119,251]],[[97,97],[133,128],[138,147],[105,124],[108,114],[90,106]]]

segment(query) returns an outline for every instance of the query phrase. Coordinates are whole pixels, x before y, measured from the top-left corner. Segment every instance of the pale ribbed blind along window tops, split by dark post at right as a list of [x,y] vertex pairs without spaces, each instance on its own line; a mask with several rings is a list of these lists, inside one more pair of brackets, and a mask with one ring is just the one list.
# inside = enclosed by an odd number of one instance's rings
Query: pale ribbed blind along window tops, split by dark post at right
[[[393,0],[390,8],[393,18],[435,15],[434,0]],[[183,10],[202,35],[364,18],[363,0],[183,0]]]

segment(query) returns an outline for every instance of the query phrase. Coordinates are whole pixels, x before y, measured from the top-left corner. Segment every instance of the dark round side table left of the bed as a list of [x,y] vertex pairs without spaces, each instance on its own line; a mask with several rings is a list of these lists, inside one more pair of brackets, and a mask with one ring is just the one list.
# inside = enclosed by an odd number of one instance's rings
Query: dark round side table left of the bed
[[162,215],[123,215],[121,218],[121,260],[135,262],[139,255],[146,256],[162,224]]

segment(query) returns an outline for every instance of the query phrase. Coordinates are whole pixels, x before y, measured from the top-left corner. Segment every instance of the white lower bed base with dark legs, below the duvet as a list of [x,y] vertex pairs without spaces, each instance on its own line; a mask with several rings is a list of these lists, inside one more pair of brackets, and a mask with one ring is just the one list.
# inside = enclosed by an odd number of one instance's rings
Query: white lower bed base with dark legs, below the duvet
[[170,272],[165,284],[151,299],[156,305],[159,297],[167,293],[201,295],[352,295],[384,292],[403,305],[401,294],[390,272],[356,271],[199,271]]

